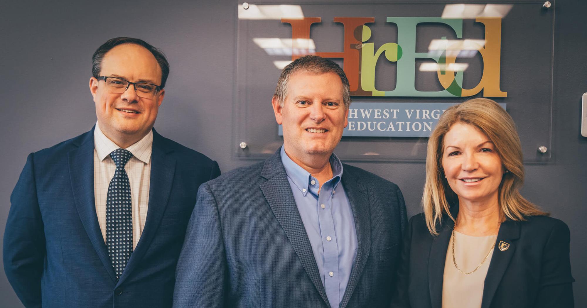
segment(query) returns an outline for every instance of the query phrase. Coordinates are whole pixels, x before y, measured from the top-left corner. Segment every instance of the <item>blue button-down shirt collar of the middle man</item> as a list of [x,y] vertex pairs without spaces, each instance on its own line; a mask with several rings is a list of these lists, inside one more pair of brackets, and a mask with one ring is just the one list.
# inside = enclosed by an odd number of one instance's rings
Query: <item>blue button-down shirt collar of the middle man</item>
[[[309,191],[309,182],[313,178],[312,175],[310,172],[306,171],[304,168],[294,163],[291,158],[289,158],[288,154],[285,153],[284,146],[281,147],[280,155],[281,163],[284,164],[285,173],[288,175],[291,181],[294,182],[302,194],[306,195]],[[334,153],[330,155],[329,162],[330,167],[332,167],[333,177],[328,181],[332,181],[332,189],[334,189],[340,183],[340,178],[342,178],[342,163],[340,163],[340,160]]]

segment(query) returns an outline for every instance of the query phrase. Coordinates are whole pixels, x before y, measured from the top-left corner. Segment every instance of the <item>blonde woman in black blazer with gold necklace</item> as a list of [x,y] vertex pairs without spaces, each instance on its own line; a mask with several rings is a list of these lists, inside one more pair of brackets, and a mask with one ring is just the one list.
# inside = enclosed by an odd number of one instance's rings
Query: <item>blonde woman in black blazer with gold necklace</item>
[[524,199],[522,150],[495,101],[448,108],[430,136],[392,307],[573,307],[569,229]]

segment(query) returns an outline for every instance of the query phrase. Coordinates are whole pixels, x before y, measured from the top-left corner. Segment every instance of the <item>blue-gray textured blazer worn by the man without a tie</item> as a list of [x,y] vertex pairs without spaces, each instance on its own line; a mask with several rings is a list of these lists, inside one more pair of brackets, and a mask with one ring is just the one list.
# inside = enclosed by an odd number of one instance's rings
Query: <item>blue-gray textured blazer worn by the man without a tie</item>
[[[344,165],[357,252],[340,307],[389,305],[407,224],[400,189]],[[330,307],[279,151],[201,185],[174,307]]]

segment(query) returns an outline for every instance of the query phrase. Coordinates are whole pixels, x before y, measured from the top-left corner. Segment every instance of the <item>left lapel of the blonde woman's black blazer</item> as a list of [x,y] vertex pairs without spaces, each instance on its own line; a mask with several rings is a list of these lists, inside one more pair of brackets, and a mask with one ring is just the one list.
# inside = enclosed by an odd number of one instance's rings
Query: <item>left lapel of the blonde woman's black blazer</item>
[[454,226],[454,221],[448,218],[447,215],[443,219],[445,224],[441,226],[439,234],[432,239],[428,259],[428,287],[433,308],[440,308],[442,305],[444,262],[446,262],[448,241],[450,241]]

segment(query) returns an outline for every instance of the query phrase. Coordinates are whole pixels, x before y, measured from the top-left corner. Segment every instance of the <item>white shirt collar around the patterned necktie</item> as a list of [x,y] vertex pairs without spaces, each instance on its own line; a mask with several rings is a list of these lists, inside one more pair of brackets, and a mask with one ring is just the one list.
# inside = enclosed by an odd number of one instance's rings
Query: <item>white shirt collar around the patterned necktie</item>
[[[116,143],[104,135],[97,122],[96,128],[94,129],[94,148],[96,149],[100,161],[104,161],[106,157],[109,157],[112,151],[120,148]],[[133,157],[145,164],[149,164],[151,153],[153,152],[153,130],[150,130],[146,136],[141,138],[141,140],[130,145],[130,147],[127,147],[126,150],[133,153]]]

